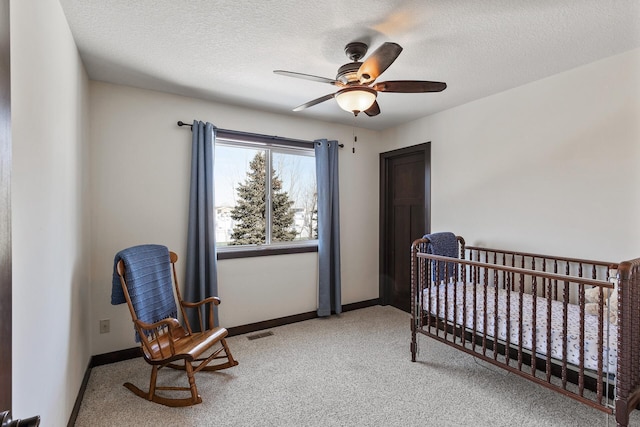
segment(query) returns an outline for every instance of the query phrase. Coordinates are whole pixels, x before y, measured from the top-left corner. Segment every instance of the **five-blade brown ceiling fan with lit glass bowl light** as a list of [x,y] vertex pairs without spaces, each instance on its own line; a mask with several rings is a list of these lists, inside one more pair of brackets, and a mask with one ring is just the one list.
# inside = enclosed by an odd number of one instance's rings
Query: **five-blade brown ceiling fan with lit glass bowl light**
[[311,74],[295,73],[293,71],[275,70],[274,73],[283,76],[329,83],[340,88],[312,101],[306,102],[293,111],[301,111],[321,102],[335,98],[340,108],[353,113],[355,116],[363,112],[367,116],[380,114],[380,106],[376,101],[378,92],[421,93],[441,92],[447,88],[443,82],[429,82],[422,80],[389,80],[374,83],[374,81],[396,60],[402,47],[397,43],[386,42],[376,49],[364,62],[360,59],[367,53],[369,46],[362,42],[352,42],[345,46],[347,57],[353,62],[338,69],[335,79],[314,76]]

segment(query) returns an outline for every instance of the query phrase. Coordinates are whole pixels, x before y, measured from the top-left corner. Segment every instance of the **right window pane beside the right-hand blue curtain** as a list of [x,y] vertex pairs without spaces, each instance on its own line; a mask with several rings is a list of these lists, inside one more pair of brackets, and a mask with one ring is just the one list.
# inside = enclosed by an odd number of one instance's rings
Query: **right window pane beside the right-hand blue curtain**
[[273,152],[272,242],[318,238],[315,157]]

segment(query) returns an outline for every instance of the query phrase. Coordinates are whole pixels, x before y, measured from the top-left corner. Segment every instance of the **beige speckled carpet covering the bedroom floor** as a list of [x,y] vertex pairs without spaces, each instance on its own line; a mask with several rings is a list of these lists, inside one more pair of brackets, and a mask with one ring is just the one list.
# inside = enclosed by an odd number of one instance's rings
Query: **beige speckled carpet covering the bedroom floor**
[[[76,426],[606,426],[607,416],[517,375],[420,337],[410,317],[370,307],[228,339],[240,364],[196,375],[203,403],[167,408],[122,384],[147,388],[133,359],[93,369]],[[250,334],[251,335],[251,334]],[[163,369],[162,381],[184,373]],[[640,426],[640,411],[632,426]],[[609,417],[608,425],[615,420]]]

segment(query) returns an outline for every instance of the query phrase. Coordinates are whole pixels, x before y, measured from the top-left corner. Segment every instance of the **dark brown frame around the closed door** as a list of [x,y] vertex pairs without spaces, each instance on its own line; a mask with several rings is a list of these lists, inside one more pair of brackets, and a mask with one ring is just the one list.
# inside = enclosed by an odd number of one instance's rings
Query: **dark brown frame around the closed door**
[[[388,193],[389,193],[389,162],[396,157],[406,156],[407,154],[424,153],[424,223],[425,234],[431,231],[431,141],[412,145],[409,147],[399,148],[397,150],[380,153],[380,230],[379,230],[379,300],[380,305],[389,305],[391,303],[391,283],[388,280],[386,260],[389,259],[389,251],[387,242],[389,241],[387,223],[389,221],[389,212],[387,210]],[[418,238],[420,236],[416,236]],[[407,248],[407,256],[410,251]]]

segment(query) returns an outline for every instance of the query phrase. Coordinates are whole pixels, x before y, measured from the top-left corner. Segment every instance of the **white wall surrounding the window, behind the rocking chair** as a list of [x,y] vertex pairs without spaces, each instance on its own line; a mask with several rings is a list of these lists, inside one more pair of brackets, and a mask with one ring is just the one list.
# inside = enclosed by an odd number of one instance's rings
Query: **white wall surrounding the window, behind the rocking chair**
[[[342,302],[378,297],[377,132],[357,130],[352,154],[351,127],[108,83],[91,82],[90,88],[93,354],[136,345],[126,306],[110,304],[115,253],[160,243],[185,255],[191,132],[178,120],[345,143],[339,172]],[[184,263],[178,266],[183,277]],[[221,260],[220,322],[232,327],[314,311],[316,282],[316,253]],[[98,333],[99,319],[111,319],[110,333]]]

